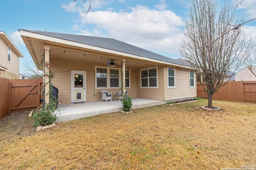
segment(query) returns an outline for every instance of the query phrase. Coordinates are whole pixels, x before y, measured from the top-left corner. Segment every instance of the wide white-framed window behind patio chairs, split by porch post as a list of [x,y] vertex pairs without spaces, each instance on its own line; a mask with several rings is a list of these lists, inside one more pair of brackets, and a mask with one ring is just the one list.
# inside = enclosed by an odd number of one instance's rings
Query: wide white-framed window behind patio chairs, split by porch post
[[[95,67],[96,88],[119,88],[121,86],[121,69],[112,67]],[[126,87],[130,87],[130,70],[125,71]]]

